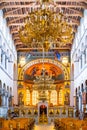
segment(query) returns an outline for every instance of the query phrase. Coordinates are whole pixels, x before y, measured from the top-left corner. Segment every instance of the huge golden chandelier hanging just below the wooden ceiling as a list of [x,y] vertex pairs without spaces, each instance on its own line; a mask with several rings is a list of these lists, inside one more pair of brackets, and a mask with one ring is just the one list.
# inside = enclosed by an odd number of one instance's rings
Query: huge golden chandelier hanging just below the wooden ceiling
[[31,10],[27,15],[24,26],[19,29],[19,37],[28,47],[48,50],[51,44],[62,46],[71,43],[73,29],[60,10],[49,8],[42,2],[39,9]]

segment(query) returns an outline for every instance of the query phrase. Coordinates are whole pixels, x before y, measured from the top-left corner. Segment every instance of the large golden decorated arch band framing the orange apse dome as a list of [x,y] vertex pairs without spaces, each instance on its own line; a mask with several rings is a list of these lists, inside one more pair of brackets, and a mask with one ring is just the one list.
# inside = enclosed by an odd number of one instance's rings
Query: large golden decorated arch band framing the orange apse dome
[[[33,60],[33,61],[30,61],[28,62],[26,65],[24,65],[20,72],[19,72],[19,75],[18,75],[18,79],[19,80],[23,80],[23,76],[24,76],[24,72],[29,68],[31,67],[32,65],[35,65],[35,64],[38,64],[38,63],[43,63],[43,59],[37,59],[37,60]],[[59,61],[56,61],[56,60],[52,60],[52,59],[44,59],[44,63],[50,63],[50,64],[53,64],[55,66],[58,66],[63,74],[64,74],[64,79],[65,80],[70,80],[70,75],[69,75],[69,71],[68,69],[66,68],[66,66],[64,66],[61,62]]]

